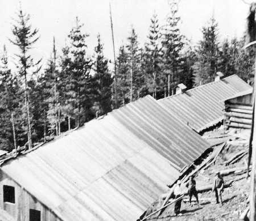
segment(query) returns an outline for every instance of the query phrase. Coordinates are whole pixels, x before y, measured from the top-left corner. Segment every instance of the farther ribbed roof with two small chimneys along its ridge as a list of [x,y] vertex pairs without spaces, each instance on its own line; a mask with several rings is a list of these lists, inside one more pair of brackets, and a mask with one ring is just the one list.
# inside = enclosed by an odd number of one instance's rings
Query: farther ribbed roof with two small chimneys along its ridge
[[223,120],[225,99],[250,88],[237,75],[231,75],[217,82],[192,88],[183,94],[160,99],[158,103],[200,132]]

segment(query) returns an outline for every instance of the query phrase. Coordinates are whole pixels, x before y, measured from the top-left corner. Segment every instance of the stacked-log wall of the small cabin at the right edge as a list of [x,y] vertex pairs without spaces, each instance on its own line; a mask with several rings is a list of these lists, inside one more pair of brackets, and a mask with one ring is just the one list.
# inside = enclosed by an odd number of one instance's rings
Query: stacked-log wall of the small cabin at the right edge
[[253,117],[252,94],[225,101],[224,128],[251,129]]

